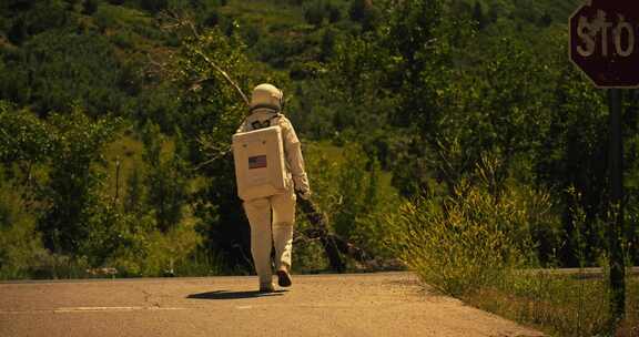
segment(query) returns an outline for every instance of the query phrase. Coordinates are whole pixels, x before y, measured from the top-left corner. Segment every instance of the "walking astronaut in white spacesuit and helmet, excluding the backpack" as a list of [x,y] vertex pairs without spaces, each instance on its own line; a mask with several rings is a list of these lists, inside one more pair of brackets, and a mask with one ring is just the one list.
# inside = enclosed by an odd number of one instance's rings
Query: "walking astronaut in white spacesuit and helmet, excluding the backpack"
[[244,201],[244,211],[251,224],[251,253],[262,293],[274,292],[272,246],[275,247],[277,284],[281,287],[291,286],[295,202],[297,196],[308,198],[311,195],[300,140],[293,125],[282,113],[282,102],[281,90],[266,83],[257,85],[251,96],[251,114],[237,130],[241,133],[278,125],[282,134],[285,180],[288,187],[272,196]]

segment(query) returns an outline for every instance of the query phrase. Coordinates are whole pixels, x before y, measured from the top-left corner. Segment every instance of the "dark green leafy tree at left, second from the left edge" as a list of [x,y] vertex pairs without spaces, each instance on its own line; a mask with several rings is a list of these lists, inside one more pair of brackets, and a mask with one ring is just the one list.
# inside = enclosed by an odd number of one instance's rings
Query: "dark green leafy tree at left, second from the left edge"
[[112,140],[115,126],[114,121],[93,122],[79,109],[68,115],[51,115],[49,183],[40,195],[48,206],[39,221],[50,251],[81,253],[93,231],[92,212],[99,212],[103,183],[103,174],[94,166],[103,162],[102,150]]

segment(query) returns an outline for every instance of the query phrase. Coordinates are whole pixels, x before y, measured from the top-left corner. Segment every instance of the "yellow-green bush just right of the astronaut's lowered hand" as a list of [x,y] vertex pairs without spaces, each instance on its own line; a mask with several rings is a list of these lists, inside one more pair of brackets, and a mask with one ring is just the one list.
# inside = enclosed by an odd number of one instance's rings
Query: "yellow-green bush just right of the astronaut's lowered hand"
[[328,214],[333,231],[368,254],[390,258],[387,239],[396,226],[384,221],[399,204],[387,172],[355,143],[304,149],[314,200]]

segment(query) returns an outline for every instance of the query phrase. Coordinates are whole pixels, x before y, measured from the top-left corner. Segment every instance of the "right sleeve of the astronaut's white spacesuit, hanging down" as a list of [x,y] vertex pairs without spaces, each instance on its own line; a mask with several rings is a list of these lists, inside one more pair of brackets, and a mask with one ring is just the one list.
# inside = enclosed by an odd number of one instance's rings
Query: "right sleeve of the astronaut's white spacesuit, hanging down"
[[302,146],[300,140],[295,134],[293,124],[286,119],[282,118],[280,120],[280,126],[282,127],[282,136],[284,141],[284,152],[286,153],[286,162],[291,168],[291,175],[293,175],[293,182],[295,183],[295,190],[302,193],[311,192],[311,186],[308,185],[308,177],[306,176],[306,171],[304,168],[304,157],[302,156]]

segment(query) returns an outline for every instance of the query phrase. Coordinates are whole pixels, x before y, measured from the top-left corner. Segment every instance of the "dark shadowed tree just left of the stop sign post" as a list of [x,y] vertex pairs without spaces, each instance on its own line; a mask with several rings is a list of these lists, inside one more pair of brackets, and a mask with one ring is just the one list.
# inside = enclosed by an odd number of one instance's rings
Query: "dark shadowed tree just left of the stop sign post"
[[[565,265],[575,267],[579,254],[592,262],[605,246],[598,226],[608,212],[608,116],[602,95],[574,68],[564,68],[557,84],[550,127],[535,168],[542,184],[559,191],[567,241],[558,254]],[[585,249],[570,239],[578,231]]]

